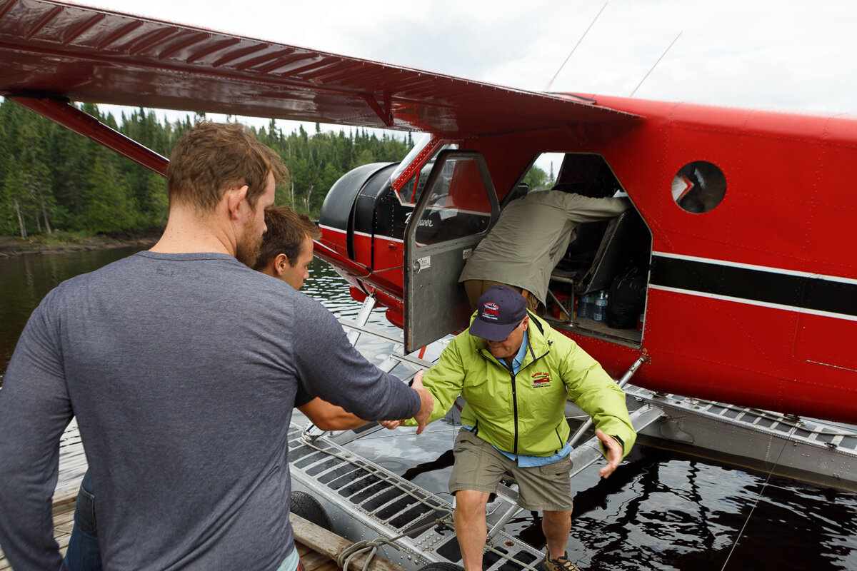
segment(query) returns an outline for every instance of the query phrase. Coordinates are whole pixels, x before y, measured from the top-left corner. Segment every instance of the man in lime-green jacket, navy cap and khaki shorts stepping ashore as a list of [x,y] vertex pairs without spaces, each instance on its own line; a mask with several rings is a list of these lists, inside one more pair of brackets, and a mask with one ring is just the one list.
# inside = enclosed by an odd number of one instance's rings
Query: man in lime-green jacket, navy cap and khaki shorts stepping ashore
[[482,569],[488,495],[506,474],[518,483],[518,505],[543,513],[542,569],[578,569],[566,553],[572,514],[566,399],[595,422],[607,458],[599,474],[607,478],[636,439],[625,393],[577,343],[528,314],[524,297],[506,286],[482,294],[470,329],[443,350],[423,385],[434,396],[428,422],[443,417],[458,394],[464,398],[449,491],[465,571]]

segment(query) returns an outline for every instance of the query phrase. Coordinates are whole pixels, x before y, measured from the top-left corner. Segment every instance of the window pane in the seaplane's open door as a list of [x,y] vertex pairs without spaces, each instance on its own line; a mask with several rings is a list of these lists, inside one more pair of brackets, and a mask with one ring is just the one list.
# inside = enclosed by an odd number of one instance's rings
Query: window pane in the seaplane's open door
[[443,164],[417,221],[417,246],[428,246],[488,230],[491,200],[475,160]]

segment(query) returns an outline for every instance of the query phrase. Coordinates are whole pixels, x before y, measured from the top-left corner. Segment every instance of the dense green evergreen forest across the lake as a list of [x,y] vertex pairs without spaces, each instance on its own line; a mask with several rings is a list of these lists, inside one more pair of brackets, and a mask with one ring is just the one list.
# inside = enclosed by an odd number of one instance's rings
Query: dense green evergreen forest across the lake
[[[78,108],[169,158],[176,140],[195,121],[160,122],[152,110],[118,119],[94,104]],[[271,121],[252,128],[285,161],[290,180],[277,188],[277,204],[317,218],[340,176],[368,163],[399,161],[411,134],[379,138],[361,128],[315,134],[303,127],[284,134]],[[165,179],[9,99],[0,104],[0,235],[116,234],[160,229],[166,223]]]

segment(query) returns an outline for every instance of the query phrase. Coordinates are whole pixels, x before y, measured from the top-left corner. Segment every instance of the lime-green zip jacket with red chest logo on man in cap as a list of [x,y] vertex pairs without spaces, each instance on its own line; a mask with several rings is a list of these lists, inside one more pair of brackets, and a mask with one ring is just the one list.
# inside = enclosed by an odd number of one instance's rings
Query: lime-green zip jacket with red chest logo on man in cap
[[532,313],[527,334],[518,374],[494,359],[470,330],[452,339],[423,376],[434,396],[428,422],[442,418],[460,393],[465,403],[461,422],[473,426],[476,436],[515,455],[549,456],[568,440],[565,403],[572,399],[596,428],[620,438],[627,455],[637,435],[625,393],[577,343]]

